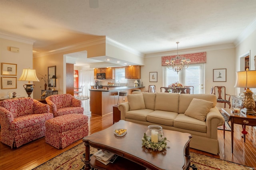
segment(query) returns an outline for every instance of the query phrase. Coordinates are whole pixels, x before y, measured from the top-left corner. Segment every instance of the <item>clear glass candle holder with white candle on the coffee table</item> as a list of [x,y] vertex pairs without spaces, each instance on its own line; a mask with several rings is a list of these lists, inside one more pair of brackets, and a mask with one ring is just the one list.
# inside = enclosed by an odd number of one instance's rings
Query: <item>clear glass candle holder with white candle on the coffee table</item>
[[146,136],[149,142],[160,143],[164,140],[164,133],[162,127],[158,125],[149,125]]

